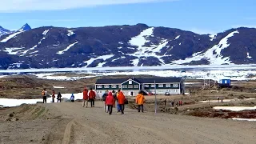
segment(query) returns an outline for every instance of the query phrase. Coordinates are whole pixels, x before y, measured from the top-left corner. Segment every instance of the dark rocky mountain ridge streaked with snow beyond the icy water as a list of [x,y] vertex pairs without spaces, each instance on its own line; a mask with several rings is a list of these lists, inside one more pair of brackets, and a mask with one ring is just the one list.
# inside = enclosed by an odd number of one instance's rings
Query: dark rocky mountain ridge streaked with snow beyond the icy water
[[134,26],[39,27],[0,38],[0,69],[256,63],[256,29],[216,35]]

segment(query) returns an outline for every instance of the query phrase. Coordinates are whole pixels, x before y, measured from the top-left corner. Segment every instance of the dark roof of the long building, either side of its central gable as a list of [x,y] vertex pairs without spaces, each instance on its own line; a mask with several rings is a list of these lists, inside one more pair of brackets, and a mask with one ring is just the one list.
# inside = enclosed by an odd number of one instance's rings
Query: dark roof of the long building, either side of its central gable
[[[111,78],[111,79],[98,79],[96,84],[121,84],[126,82],[129,78]],[[166,82],[181,82],[182,78],[134,78],[134,81],[139,83],[166,83]]]

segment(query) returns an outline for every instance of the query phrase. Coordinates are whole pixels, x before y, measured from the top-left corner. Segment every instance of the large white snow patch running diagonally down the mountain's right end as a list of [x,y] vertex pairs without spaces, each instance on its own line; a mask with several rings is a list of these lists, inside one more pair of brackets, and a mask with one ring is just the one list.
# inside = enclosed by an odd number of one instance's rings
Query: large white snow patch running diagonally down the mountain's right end
[[[228,43],[228,39],[233,37],[234,34],[239,34],[239,32],[236,30],[230,34],[228,34],[225,38],[222,38],[222,40],[218,43],[218,45],[213,46],[209,50],[207,50],[205,53],[202,54],[193,54],[192,58],[186,58],[184,60],[180,59],[177,61],[173,61],[173,64],[183,64],[188,63],[192,61],[200,61],[201,59],[207,59],[210,61],[210,65],[222,65],[222,64],[232,64],[230,62],[230,58],[226,57],[223,58],[221,52],[222,50],[226,49],[230,44]],[[214,54],[216,53],[216,54]]]

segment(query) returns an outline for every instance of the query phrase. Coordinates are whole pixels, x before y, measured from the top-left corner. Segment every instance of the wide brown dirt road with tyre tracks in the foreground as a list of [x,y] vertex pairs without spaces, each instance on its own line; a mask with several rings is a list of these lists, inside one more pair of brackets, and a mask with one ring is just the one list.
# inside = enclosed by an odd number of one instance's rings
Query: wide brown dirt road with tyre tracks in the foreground
[[[218,118],[196,118],[173,114],[138,114],[135,110],[128,108],[124,115],[117,114],[116,110],[113,115],[109,115],[103,112],[102,102],[96,102],[95,108],[82,107],[78,102],[54,103],[45,106],[50,110],[50,114],[61,117],[49,119],[46,122],[40,121],[37,125],[33,124],[36,121],[30,123],[34,126],[33,128],[44,127],[44,132],[37,129],[38,134],[43,136],[41,143],[254,144],[256,139],[256,122],[234,122]],[[0,132],[0,136],[6,137],[7,133],[6,130],[4,133]],[[24,132],[23,135],[26,133]],[[27,135],[26,138],[28,138]],[[21,139],[18,142],[15,139],[13,142],[2,141],[2,143],[24,142],[37,143],[38,141],[29,141],[29,139]]]

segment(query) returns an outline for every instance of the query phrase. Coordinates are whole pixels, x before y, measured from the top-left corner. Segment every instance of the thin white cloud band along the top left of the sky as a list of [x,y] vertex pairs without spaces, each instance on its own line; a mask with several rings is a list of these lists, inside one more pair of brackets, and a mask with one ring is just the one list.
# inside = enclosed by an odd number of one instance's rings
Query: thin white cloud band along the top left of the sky
[[172,1],[178,0],[1,0],[0,12],[66,10],[89,6]]

